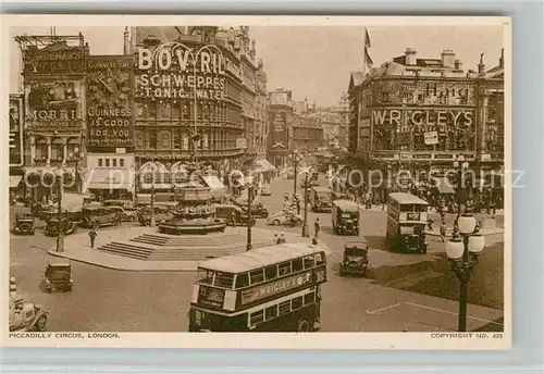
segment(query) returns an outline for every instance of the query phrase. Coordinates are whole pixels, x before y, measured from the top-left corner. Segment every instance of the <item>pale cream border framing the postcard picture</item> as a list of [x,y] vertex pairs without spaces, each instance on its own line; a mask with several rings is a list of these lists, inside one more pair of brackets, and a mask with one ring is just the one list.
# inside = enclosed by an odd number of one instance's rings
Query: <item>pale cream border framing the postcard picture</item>
[[[202,25],[221,26],[484,26],[504,27],[505,48],[505,170],[511,171],[511,20],[505,16],[248,16],[248,15],[2,15],[2,38],[10,37],[13,26],[165,26]],[[9,107],[9,43],[3,42],[1,59],[2,99],[1,113]],[[7,126],[3,129],[7,137]],[[2,148],[4,160],[8,149]],[[9,174],[8,163],[0,163],[3,175]],[[7,179],[5,179],[7,180]],[[4,182],[4,179],[2,180]],[[511,175],[506,173],[506,184],[511,186]],[[8,184],[0,184],[2,196],[8,196]],[[436,338],[442,333],[312,333],[312,334],[189,334],[189,333],[118,333],[119,338],[63,339],[63,338],[9,338],[8,292],[0,292],[2,316],[1,341],[4,347],[66,347],[66,348],[242,348],[242,349],[452,349],[452,350],[505,350],[511,348],[511,188],[505,189],[505,237],[504,237],[504,325],[503,338]],[[7,199],[1,199],[2,211],[8,211]],[[2,248],[9,248],[9,216],[1,215],[0,236]],[[9,289],[9,250],[2,251],[1,289]],[[55,333],[51,333],[54,336]],[[84,333],[86,335],[87,333]],[[455,334],[455,333],[450,333]],[[485,333],[492,335],[493,333]],[[247,336],[246,336],[247,335]]]

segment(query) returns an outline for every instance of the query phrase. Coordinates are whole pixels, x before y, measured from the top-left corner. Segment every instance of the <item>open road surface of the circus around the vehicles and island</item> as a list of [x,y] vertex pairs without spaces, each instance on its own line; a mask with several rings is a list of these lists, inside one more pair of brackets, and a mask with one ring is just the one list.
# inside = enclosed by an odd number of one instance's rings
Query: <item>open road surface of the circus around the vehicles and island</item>
[[[293,180],[274,180],[272,189],[271,197],[260,197],[271,212],[282,208],[283,191],[293,190]],[[426,254],[391,253],[384,240],[385,214],[361,211],[361,235],[372,248],[371,269],[366,277],[341,277],[344,244],[355,237],[333,235],[326,213],[310,212],[310,228],[317,216],[322,221],[319,238],[333,251],[327,259],[329,282],[322,289],[323,332],[456,329],[458,282],[442,245],[432,245]],[[258,220],[257,227],[271,228],[263,220]],[[99,235],[115,229],[102,228]],[[281,229],[300,235],[300,227]],[[35,236],[10,236],[10,245],[11,275],[29,300],[50,311],[50,331],[187,331],[193,272],[120,272],[73,262],[74,290],[46,294],[39,285],[44,266],[55,259],[48,252],[54,238],[38,229]],[[503,259],[502,244],[480,257],[468,291],[470,329],[502,328]]]

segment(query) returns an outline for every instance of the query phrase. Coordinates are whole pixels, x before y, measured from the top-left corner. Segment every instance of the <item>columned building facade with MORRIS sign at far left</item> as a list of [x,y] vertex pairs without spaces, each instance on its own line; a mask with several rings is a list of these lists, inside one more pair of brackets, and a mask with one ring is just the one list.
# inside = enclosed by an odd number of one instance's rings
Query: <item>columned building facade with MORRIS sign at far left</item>
[[89,48],[75,36],[17,36],[24,77],[26,192],[37,200],[79,190],[85,170],[85,61]]

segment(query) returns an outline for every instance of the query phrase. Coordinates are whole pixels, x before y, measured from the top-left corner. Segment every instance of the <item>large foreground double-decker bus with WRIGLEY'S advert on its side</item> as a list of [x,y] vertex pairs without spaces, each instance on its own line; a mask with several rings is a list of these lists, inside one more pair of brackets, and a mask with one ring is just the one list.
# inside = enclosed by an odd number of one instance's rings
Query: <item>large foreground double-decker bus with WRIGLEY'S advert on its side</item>
[[319,328],[327,250],[282,244],[201,262],[189,332],[311,332]]

